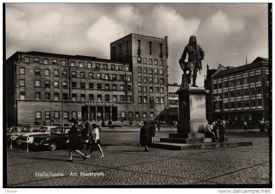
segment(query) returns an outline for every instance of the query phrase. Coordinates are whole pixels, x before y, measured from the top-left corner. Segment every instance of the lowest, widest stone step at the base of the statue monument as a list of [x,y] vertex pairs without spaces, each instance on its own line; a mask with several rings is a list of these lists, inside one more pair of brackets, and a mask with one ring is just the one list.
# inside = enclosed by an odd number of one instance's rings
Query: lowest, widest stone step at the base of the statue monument
[[227,148],[227,147],[238,147],[238,146],[249,146],[253,145],[252,141],[247,142],[208,142],[208,143],[192,143],[192,144],[180,144],[170,142],[153,142],[153,148],[163,148],[170,150],[192,150],[192,149],[211,149],[211,148]]

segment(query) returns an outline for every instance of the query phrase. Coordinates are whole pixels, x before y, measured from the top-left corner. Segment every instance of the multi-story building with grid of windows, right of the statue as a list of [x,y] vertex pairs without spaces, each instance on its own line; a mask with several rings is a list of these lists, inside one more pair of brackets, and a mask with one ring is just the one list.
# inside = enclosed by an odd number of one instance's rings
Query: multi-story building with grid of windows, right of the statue
[[213,119],[258,123],[269,119],[268,59],[222,70],[211,76]]

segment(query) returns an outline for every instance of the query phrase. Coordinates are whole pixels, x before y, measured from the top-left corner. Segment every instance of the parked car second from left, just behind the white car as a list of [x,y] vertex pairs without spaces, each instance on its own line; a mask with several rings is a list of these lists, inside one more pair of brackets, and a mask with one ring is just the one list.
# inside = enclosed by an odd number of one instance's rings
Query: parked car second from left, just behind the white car
[[10,144],[11,141],[12,143],[15,143],[15,145],[21,145],[22,143],[20,142],[20,136],[29,132],[36,132],[38,129],[43,127],[43,125],[33,125],[33,126],[25,126],[24,128],[21,129],[20,132],[11,132],[7,134],[7,143]]

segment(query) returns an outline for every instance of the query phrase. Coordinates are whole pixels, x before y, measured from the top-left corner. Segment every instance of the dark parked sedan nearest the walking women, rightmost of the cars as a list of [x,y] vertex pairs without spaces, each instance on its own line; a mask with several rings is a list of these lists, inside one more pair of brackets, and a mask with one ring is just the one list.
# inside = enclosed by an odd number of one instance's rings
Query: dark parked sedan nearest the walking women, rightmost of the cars
[[[33,140],[34,148],[48,148],[50,151],[67,148],[66,141],[71,127],[56,127],[50,134],[36,135]],[[82,145],[81,128],[77,127],[78,146]],[[85,147],[85,146],[83,146]]]

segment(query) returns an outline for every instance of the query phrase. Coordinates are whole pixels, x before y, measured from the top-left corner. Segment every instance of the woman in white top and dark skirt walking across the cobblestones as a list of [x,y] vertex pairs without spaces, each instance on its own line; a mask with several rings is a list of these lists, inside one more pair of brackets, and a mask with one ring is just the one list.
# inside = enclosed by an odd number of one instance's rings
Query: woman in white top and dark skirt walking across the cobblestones
[[89,154],[86,156],[87,158],[91,157],[91,153],[93,152],[93,148],[95,145],[97,145],[98,150],[101,154],[101,156],[99,158],[105,158],[105,156],[103,155],[103,151],[101,149],[101,141],[99,138],[99,132],[98,132],[98,128],[96,127],[96,124],[92,124],[92,128],[88,131],[89,132],[89,144],[91,145],[91,149]]

